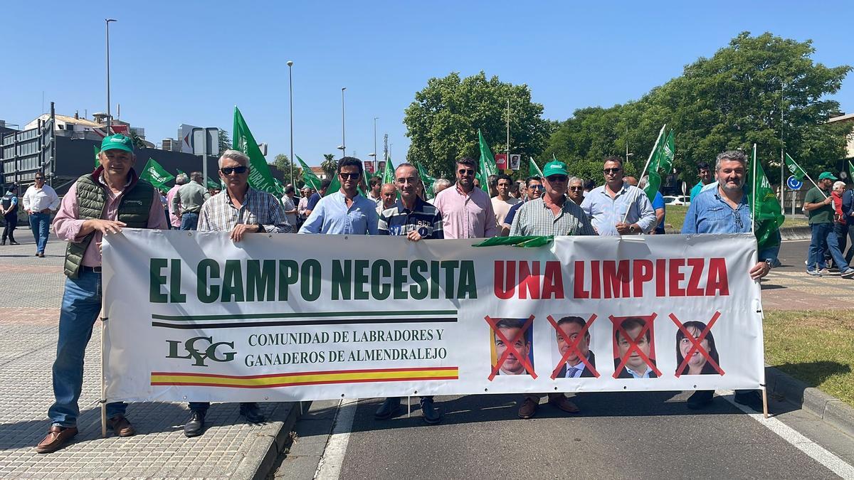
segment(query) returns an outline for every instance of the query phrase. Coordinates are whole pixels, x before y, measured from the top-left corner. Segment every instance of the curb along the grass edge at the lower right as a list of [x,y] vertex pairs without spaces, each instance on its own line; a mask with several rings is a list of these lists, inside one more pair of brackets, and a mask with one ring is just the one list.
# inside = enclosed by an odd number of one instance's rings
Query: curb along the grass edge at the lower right
[[769,395],[780,395],[786,401],[842,430],[846,435],[854,436],[854,408],[844,401],[807,386],[773,366],[765,367],[765,389]]

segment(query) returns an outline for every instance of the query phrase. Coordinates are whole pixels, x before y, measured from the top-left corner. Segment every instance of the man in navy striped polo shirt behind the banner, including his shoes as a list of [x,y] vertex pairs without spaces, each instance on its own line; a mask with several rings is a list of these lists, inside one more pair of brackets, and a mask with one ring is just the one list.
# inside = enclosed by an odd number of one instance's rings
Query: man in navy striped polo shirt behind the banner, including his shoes
[[[401,163],[395,169],[395,186],[401,192],[401,198],[379,215],[377,231],[380,235],[407,237],[412,242],[424,239],[444,238],[442,234],[442,214],[439,209],[424,202],[418,196],[421,180],[418,169],[409,163]],[[374,413],[374,418],[390,419],[401,406],[400,397],[385,399]],[[428,424],[442,421],[442,413],[433,405],[432,396],[421,397],[421,413]]]

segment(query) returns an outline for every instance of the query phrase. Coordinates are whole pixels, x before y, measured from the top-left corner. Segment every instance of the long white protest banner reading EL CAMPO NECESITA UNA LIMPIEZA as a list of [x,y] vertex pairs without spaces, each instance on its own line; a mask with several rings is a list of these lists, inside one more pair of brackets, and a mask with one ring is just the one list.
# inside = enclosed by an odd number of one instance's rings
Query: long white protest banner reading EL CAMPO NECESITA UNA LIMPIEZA
[[[471,240],[126,229],[108,401],[756,389],[752,235]],[[685,360],[687,358],[687,360]]]

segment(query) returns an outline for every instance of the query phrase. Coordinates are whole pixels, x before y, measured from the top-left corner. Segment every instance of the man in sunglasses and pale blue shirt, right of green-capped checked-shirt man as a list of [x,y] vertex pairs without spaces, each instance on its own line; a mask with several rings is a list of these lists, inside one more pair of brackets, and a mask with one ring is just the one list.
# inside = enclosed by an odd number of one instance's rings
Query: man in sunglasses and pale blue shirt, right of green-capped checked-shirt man
[[605,158],[605,184],[584,197],[582,209],[602,236],[646,233],[655,224],[655,211],[646,193],[623,181],[623,159]]

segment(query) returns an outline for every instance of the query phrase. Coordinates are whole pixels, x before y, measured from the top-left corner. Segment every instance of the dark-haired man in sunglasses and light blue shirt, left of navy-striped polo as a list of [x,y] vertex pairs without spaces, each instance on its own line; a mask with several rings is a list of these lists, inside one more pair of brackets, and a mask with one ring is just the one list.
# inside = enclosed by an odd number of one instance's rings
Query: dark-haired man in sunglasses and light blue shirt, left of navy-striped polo
[[341,190],[324,196],[302,224],[300,233],[377,235],[377,203],[359,193],[362,161],[345,156],[338,161]]

